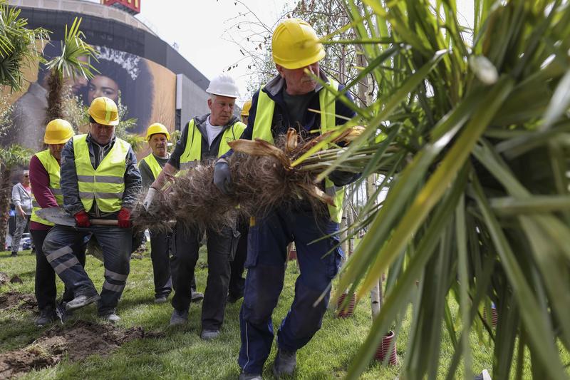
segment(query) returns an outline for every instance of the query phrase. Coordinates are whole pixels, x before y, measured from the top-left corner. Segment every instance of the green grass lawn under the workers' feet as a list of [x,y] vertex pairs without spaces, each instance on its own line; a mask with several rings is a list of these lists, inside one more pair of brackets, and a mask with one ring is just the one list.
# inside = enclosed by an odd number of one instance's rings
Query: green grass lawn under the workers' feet
[[[19,257],[7,257],[9,252],[0,252],[0,271],[11,277],[18,274],[23,284],[6,284],[1,292],[16,290],[33,294],[33,273],[35,257],[29,251]],[[204,264],[205,252],[201,252],[196,279],[199,291],[204,291],[207,268]],[[87,271],[100,289],[103,282],[103,264],[88,256]],[[293,299],[296,265],[291,262],[286,272],[284,291],[274,312],[274,325],[279,326]],[[58,280],[58,294],[63,292],[63,284]],[[89,356],[81,362],[64,359],[51,368],[32,371],[24,379],[236,379],[239,374],[237,354],[239,351],[239,307],[241,301],[229,304],[222,327],[222,334],[214,342],[204,342],[199,338],[200,307],[192,304],[189,322],[184,327],[170,328],[168,322],[172,306],[153,303],[152,266],[147,252],[142,259],[131,261],[130,276],[123,298],[118,307],[122,318],[119,327],[142,327],[145,332],[162,333],[163,337],[138,339],[123,344],[120,349],[106,357]],[[85,319],[103,323],[98,319],[94,305],[79,310],[73,319]],[[314,339],[298,353],[297,379],[336,379],[346,374],[351,358],[363,342],[371,325],[370,305],[361,301],[356,308],[356,316],[338,319],[333,311],[326,313],[323,328]],[[33,312],[20,309],[0,310],[0,353],[22,348],[33,342],[48,329],[36,328]],[[405,319],[398,334],[398,356],[400,362],[405,355],[405,342],[408,337],[410,319]],[[450,364],[452,345],[446,332],[443,333],[440,376],[445,374]],[[484,339],[483,339],[484,341]],[[492,348],[480,342],[472,334],[473,370],[481,371],[492,367]],[[271,364],[275,356],[275,344],[266,363],[264,377],[271,379]],[[528,361],[527,361],[528,362]],[[395,379],[399,366],[383,366],[371,361],[362,379]],[[530,374],[529,368],[525,373]],[[460,373],[457,377],[461,376]]]

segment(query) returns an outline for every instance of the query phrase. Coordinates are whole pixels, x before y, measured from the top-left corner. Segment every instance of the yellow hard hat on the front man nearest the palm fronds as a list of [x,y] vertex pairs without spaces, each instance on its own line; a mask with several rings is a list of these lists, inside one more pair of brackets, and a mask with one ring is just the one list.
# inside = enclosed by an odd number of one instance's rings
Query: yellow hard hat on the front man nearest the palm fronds
[[293,70],[321,61],[325,50],[311,25],[299,19],[287,19],[273,32],[271,54],[275,63]]

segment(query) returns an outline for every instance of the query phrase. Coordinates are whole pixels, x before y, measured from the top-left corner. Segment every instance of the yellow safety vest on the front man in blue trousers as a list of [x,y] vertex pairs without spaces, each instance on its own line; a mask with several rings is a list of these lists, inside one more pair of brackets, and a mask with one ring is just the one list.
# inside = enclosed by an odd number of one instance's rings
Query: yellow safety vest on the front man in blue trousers
[[[336,81],[331,79],[329,84],[333,86],[335,90],[338,90],[338,83]],[[269,98],[267,93],[261,91],[262,89],[263,88],[259,90],[259,96],[257,97],[257,109],[252,138],[260,138],[261,140],[274,144],[274,138],[271,134],[271,125],[273,123],[275,102]],[[327,130],[333,128],[336,124],[336,103],[334,94],[323,88],[318,92],[318,104],[323,112],[321,113],[321,133],[326,133]],[[333,222],[340,223],[343,217],[344,188],[336,187],[333,181],[326,178],[325,191],[328,195],[333,197],[334,200],[334,206],[328,205],[328,214],[331,216]]]

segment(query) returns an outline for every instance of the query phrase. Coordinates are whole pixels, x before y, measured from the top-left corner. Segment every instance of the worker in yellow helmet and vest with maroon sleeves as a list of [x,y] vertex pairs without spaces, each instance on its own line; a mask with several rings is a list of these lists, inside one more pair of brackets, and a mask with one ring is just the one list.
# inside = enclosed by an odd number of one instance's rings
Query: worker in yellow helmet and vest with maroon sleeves
[[[54,119],[46,125],[43,142],[48,149],[32,156],[30,160],[30,183],[33,210],[30,222],[30,234],[36,245],[36,300],[40,316],[36,326],[45,326],[56,319],[56,272],[43,255],[43,240],[46,239],[52,222],[41,219],[36,211],[41,208],[62,207],[63,195],[59,185],[61,149],[73,137],[73,128],[66,120]],[[82,242],[73,247],[73,252],[81,265],[85,265],[85,246]],[[66,287],[63,302],[73,299],[73,292]]]

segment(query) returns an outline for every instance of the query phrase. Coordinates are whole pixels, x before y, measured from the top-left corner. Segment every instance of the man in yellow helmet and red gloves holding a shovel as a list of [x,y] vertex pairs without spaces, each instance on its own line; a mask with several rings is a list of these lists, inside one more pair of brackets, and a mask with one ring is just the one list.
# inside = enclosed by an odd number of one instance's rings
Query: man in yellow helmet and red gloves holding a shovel
[[[109,322],[115,314],[129,274],[133,230],[130,210],[141,190],[137,158],[130,144],[115,136],[118,109],[110,98],[93,99],[89,133],[76,135],[61,151],[63,207],[76,219],[76,227],[56,225],[43,250],[48,262],[75,298],[67,310],[98,302],[98,314]],[[92,218],[116,220],[118,226],[92,225]],[[92,234],[103,250],[105,282],[99,296],[85,269],[70,248]]]

